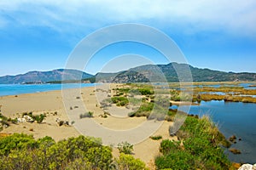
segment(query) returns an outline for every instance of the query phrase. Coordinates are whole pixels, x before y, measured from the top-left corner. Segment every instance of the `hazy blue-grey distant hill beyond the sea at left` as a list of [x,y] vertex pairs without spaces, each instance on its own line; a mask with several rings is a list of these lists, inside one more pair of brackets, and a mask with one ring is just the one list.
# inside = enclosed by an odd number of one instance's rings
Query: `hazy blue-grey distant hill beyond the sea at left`
[[[58,69],[54,71],[30,71],[26,74],[16,76],[0,77],[1,84],[14,83],[40,83],[40,82],[55,82],[61,80],[80,80],[90,78],[92,75],[83,71],[76,71],[71,69]],[[63,78],[63,79],[62,79]]]

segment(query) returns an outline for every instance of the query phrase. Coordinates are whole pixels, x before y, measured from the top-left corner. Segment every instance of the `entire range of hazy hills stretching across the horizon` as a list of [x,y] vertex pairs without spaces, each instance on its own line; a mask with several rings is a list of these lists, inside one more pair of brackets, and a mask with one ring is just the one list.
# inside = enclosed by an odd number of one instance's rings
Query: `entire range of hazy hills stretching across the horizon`
[[[189,77],[191,72],[192,77]],[[187,64],[142,65],[127,71],[90,75],[83,71],[59,69],[54,71],[30,71],[16,76],[0,77],[0,83],[44,82],[241,82],[256,81],[256,73],[224,72],[200,69]]]

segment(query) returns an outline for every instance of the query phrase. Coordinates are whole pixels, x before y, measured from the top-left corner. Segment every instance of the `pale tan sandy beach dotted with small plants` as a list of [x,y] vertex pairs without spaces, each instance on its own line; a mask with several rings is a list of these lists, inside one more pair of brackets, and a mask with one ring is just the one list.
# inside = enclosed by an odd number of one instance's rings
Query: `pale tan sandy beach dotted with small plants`
[[[172,125],[172,122],[148,122],[145,117],[128,117],[126,115],[131,110],[124,107],[115,106],[103,109],[100,102],[104,99],[102,97],[104,93],[97,94],[96,92],[96,88],[90,87],[68,89],[65,92],[60,90],[2,96],[0,97],[0,105],[2,105],[3,116],[15,118],[20,117],[24,112],[32,111],[33,115],[45,114],[46,117],[42,123],[11,123],[1,133],[28,133],[32,134],[35,139],[50,136],[56,141],[76,137],[82,133],[88,136],[102,137],[103,144],[113,144],[111,141],[124,141],[126,139],[126,141],[134,144],[134,156],[142,159],[149,167],[153,168],[154,157],[160,154],[161,140],[153,140],[148,137],[161,135],[163,139],[171,139],[168,127]],[[79,115],[84,111],[93,112],[93,118],[80,119]],[[103,118],[104,112],[108,112],[110,116]],[[60,127],[55,122],[57,118],[68,121],[71,125]],[[101,128],[91,127],[90,123],[92,122]],[[102,129],[105,129],[106,133]],[[113,148],[113,156],[118,155],[118,150]]]

